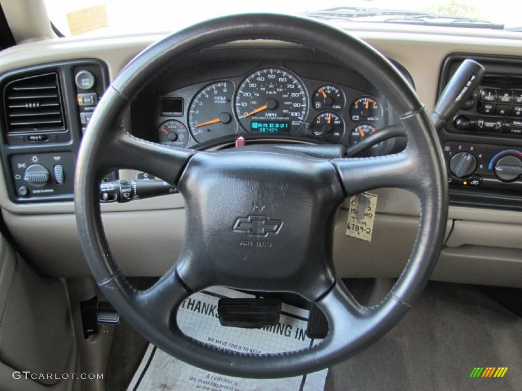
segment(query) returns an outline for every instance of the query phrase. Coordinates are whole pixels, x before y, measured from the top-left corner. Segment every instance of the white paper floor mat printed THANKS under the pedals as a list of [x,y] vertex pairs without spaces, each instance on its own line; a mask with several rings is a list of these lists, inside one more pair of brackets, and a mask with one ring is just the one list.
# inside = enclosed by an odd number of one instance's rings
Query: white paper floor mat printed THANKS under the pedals
[[[314,344],[306,337],[308,311],[283,304],[279,324],[262,329],[222,327],[217,305],[222,297],[252,297],[228,288],[212,288],[187,298],[177,314],[181,330],[208,344],[249,353],[278,353]],[[152,344],[127,391],[322,391],[323,370],[274,380],[244,379],[201,370],[177,360]]]

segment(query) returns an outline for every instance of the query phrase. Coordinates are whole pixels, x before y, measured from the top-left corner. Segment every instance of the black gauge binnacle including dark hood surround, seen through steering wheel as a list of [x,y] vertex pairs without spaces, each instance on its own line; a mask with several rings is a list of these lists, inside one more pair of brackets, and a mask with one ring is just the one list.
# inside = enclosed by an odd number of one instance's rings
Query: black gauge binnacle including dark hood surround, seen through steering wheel
[[[239,137],[350,146],[397,122],[371,81],[333,60],[318,62],[317,53],[272,47],[259,59],[256,50],[243,48],[237,56],[226,48],[207,50],[194,64],[183,61],[185,69],[170,70],[143,93],[155,96],[153,110],[149,98],[137,97],[131,132],[179,148],[205,149]],[[140,109],[144,105],[146,111]],[[143,131],[152,120],[153,135]],[[366,154],[390,153],[401,145],[387,140]]]

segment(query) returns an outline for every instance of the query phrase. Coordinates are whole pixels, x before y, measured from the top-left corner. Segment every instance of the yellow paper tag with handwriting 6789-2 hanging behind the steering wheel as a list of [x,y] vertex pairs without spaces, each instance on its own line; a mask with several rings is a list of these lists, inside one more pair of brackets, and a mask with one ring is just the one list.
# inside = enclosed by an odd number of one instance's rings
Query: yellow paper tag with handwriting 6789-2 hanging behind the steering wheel
[[361,193],[350,198],[346,235],[371,242],[377,195]]

